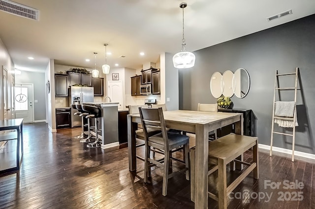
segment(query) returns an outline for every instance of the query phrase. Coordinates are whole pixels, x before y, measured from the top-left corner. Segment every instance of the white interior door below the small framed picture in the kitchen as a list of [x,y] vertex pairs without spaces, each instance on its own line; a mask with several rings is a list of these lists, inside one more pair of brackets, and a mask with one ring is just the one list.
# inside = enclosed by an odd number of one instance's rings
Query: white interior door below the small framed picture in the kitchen
[[109,96],[112,99],[112,102],[119,102],[118,108],[122,108],[123,107],[123,82],[122,81],[108,81],[107,96]]

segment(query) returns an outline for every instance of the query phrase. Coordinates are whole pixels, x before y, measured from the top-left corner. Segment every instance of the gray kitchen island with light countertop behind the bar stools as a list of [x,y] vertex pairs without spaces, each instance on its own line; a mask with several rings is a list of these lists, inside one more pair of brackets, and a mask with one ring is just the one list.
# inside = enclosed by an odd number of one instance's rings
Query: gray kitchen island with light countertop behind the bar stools
[[[102,111],[102,117],[97,119],[98,138],[102,140],[102,149],[118,149],[118,102],[83,102],[83,105],[98,106]],[[94,126],[94,119],[91,120],[91,126]],[[99,125],[101,124],[101,125]],[[94,130],[91,134],[95,135]]]

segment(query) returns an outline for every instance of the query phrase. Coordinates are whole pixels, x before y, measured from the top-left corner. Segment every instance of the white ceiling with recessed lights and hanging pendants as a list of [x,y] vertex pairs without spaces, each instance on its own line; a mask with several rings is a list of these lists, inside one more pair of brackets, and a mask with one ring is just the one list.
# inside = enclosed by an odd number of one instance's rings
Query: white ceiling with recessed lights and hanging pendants
[[[0,11],[0,39],[15,67],[44,71],[56,64],[141,69],[161,52],[181,50],[182,0],[14,0],[39,10],[39,20]],[[315,13],[315,0],[187,0],[187,51],[268,29]],[[266,21],[292,9],[293,14]],[[141,57],[139,52],[145,52]],[[120,56],[126,58],[120,58]],[[28,57],[34,57],[29,60]],[[86,62],[85,59],[91,59]]]

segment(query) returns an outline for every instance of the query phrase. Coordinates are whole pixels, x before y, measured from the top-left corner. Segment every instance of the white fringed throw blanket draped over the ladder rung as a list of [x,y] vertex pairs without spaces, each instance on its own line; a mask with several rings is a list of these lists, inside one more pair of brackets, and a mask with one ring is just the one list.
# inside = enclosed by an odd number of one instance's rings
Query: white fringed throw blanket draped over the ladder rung
[[[296,118],[296,109],[295,109],[295,102],[284,102],[284,101],[277,101],[276,102],[276,110],[275,110],[276,117],[284,117],[284,118],[292,118],[295,116],[295,126],[299,126]],[[294,123],[293,120],[288,119],[275,119],[274,121],[281,127],[285,128],[293,128]]]

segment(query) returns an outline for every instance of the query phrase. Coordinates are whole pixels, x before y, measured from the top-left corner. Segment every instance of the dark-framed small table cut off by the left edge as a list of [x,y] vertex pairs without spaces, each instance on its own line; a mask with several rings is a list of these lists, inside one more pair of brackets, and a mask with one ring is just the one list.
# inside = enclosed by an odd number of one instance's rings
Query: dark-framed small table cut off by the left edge
[[[0,174],[18,171],[20,169],[20,143],[21,160],[23,156],[23,119],[0,120],[0,131],[16,130],[14,132],[0,133],[0,141],[17,140],[16,145],[16,167],[1,170]],[[0,159],[1,160],[1,159]]]

